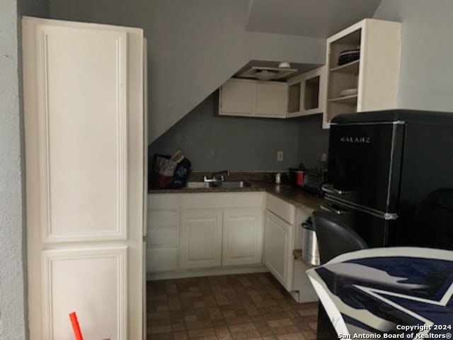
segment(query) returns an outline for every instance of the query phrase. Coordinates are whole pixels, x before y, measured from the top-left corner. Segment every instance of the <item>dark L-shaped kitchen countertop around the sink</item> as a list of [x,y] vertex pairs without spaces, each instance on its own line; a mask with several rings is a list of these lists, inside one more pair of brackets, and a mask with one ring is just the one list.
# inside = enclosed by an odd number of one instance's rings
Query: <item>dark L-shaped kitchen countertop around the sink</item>
[[[201,175],[200,175],[201,174]],[[253,185],[244,188],[180,188],[180,189],[161,189],[151,188],[148,193],[226,193],[226,192],[250,192],[250,191],[265,191],[271,193],[282,200],[295,205],[297,208],[305,208],[309,210],[319,209],[319,205],[323,202],[323,198],[304,191],[302,188],[297,188],[290,184],[275,184],[265,181],[263,173],[232,173],[226,181],[249,181]],[[191,175],[190,181],[201,181],[202,173]]]

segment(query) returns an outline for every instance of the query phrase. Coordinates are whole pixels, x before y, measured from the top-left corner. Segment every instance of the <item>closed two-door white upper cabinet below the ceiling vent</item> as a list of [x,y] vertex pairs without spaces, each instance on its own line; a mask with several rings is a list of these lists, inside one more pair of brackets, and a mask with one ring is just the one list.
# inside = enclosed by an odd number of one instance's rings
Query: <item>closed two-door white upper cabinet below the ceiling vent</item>
[[229,79],[220,87],[219,115],[285,118],[286,112],[285,82]]

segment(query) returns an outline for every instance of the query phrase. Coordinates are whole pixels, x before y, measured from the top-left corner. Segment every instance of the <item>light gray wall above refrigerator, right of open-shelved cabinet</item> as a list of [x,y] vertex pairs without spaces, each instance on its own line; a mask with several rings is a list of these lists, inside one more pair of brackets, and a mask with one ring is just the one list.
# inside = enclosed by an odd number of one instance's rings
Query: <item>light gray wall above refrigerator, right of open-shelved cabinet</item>
[[382,0],[374,18],[403,23],[398,107],[453,112],[453,1]]

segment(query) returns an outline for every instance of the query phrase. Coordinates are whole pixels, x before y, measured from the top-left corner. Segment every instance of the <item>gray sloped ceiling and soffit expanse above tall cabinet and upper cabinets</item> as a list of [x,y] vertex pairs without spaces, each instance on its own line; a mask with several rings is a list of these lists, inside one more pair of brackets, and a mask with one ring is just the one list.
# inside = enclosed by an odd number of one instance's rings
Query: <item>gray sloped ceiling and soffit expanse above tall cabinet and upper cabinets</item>
[[144,29],[149,142],[246,64],[323,64],[328,35],[379,0],[49,0],[50,18]]

